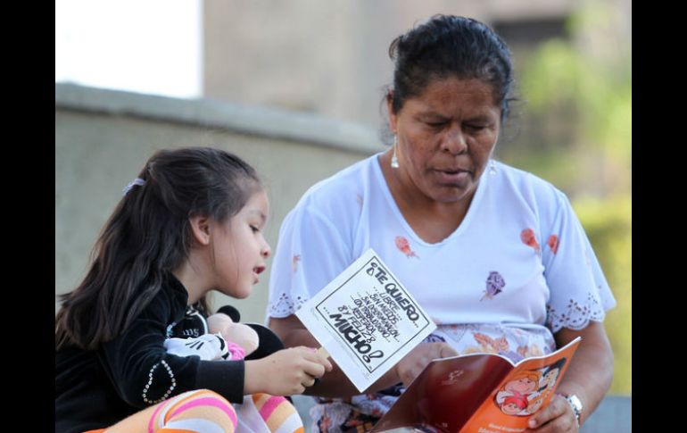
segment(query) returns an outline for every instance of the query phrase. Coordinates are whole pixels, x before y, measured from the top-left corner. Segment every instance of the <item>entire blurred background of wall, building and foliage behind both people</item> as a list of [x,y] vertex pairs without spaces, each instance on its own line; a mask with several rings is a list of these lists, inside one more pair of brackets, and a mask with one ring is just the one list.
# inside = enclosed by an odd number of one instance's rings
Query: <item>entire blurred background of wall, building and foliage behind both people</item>
[[[269,188],[267,237],[305,190],[385,148],[388,46],[435,13],[509,44],[520,102],[496,157],[570,197],[617,298],[611,393],[632,394],[629,0],[56,0],[55,295],[162,147],[218,146]],[[235,304],[264,320],[267,278]],[[55,312],[59,302],[55,297]]]

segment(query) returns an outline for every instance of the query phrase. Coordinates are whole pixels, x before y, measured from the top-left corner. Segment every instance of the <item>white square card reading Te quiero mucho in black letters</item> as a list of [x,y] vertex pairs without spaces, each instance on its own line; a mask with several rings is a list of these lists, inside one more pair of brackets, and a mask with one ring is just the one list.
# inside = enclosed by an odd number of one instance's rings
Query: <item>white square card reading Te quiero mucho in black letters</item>
[[371,248],[295,314],[360,392],[436,329]]

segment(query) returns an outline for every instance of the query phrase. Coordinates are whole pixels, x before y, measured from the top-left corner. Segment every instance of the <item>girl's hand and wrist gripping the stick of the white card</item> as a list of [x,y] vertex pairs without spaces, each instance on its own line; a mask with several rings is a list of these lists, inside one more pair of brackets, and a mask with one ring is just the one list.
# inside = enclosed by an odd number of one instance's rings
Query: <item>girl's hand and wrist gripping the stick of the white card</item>
[[259,360],[245,362],[244,394],[302,394],[325,371],[332,371],[332,363],[316,349],[298,346],[279,350]]

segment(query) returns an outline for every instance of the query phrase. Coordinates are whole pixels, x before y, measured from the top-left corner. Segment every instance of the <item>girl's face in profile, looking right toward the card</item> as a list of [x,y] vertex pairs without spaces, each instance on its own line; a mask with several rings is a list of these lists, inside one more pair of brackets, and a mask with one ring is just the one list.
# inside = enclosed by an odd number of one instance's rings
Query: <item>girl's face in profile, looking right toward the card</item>
[[262,235],[268,212],[267,194],[260,190],[231,219],[213,224],[212,269],[215,288],[223,294],[242,299],[260,281],[265,260],[272,254]]

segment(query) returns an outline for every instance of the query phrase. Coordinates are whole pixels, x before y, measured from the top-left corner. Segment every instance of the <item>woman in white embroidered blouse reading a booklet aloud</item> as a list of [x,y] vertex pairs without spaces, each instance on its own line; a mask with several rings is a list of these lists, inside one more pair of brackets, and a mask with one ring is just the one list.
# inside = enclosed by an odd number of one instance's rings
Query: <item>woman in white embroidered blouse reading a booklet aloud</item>
[[[317,345],[294,312],[368,247],[438,329],[358,394],[335,367],[309,389],[320,431],[368,429],[436,357],[514,361],[583,341],[538,432],[578,431],[610,385],[601,321],[615,305],[567,197],[492,160],[512,100],[509,49],[483,23],[435,16],[396,38],[386,95],[393,147],[311,187],[279,235],[269,326],[286,346]],[[380,392],[381,391],[381,392]]]

